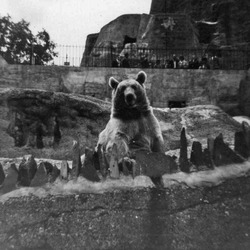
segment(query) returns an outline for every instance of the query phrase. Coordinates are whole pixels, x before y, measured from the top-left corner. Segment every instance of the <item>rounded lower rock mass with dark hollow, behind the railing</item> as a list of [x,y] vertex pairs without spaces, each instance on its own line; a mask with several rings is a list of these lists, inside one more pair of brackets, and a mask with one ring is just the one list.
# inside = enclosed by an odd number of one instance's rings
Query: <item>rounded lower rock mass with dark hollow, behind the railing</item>
[[[169,20],[174,20],[172,25]],[[193,25],[184,14],[122,15],[101,29],[93,46],[95,39],[96,34],[88,36],[81,66],[102,66],[104,62],[105,66],[108,66],[108,62],[111,66],[126,44],[158,50],[169,47],[194,48],[198,45]],[[136,57],[139,59],[140,55]]]

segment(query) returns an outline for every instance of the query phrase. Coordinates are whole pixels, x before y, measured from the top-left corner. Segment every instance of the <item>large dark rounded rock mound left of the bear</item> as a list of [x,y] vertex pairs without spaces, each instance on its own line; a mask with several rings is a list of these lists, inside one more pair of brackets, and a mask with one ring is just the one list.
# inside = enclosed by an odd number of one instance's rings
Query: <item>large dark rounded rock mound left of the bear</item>
[[[38,89],[0,89],[0,121],[3,124],[0,155],[20,157],[20,154],[27,154],[28,147],[28,152],[37,158],[72,159],[69,148],[79,135],[84,146],[95,147],[98,134],[109,120],[110,109],[110,103],[88,96]],[[37,148],[38,117],[45,150]]]

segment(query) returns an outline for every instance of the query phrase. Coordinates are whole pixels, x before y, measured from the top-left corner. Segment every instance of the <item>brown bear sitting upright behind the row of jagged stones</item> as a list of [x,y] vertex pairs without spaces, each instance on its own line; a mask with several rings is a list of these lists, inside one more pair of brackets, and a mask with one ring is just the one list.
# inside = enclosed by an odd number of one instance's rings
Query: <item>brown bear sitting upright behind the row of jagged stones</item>
[[109,79],[113,89],[111,117],[97,144],[108,164],[114,146],[118,162],[133,157],[136,150],[163,152],[161,129],[146,95],[146,79],[143,71],[137,74],[136,80]]

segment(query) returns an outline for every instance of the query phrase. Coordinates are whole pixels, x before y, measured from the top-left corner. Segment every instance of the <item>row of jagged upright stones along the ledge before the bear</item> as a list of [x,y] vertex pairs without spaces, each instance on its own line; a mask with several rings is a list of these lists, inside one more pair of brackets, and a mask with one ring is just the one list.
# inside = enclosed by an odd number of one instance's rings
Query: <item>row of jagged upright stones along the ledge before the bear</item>
[[[181,176],[183,173],[192,174],[197,171],[215,170],[215,166],[242,164],[242,169],[230,166],[233,171],[233,175],[230,175],[229,171],[228,178],[230,178],[247,173],[250,169],[247,161],[250,157],[250,125],[243,122],[241,131],[235,133],[234,139],[234,150],[224,142],[223,135],[219,134],[215,139],[212,137],[207,139],[206,148],[202,147],[200,142],[192,141],[192,150],[188,153],[186,132],[185,128],[182,128],[178,156],[140,150],[131,158],[126,156],[122,161],[118,161],[117,147],[115,146],[110,156],[109,165],[103,153],[99,153],[99,148],[96,152],[86,147],[85,154],[81,157],[80,145],[78,141],[74,141],[71,167],[69,167],[68,161],[61,161],[60,176],[57,166],[52,165],[53,160],[50,163],[40,159],[40,163],[37,164],[37,160],[32,155],[26,155],[17,168],[15,165],[18,163],[17,159],[2,160],[0,162],[0,196],[15,190],[17,187],[40,186],[44,188],[49,183],[56,182],[56,185],[60,185],[60,183],[65,184],[71,180],[77,182],[82,177],[85,181],[100,182],[102,180],[103,182],[110,178],[120,179],[120,176],[124,175],[130,175],[133,179],[144,176],[149,181],[152,180],[156,186],[166,187],[168,178],[171,176],[176,178],[174,174]],[[177,158],[179,164],[176,161]],[[7,172],[7,178],[5,178],[5,172]],[[211,172],[206,172],[205,176],[209,174],[211,175]],[[57,177],[59,178],[57,179]],[[223,177],[222,174],[218,175],[217,178],[224,181],[226,177]],[[207,180],[209,182],[209,178]],[[214,184],[217,182],[215,179]],[[209,185],[213,185],[211,180]]]

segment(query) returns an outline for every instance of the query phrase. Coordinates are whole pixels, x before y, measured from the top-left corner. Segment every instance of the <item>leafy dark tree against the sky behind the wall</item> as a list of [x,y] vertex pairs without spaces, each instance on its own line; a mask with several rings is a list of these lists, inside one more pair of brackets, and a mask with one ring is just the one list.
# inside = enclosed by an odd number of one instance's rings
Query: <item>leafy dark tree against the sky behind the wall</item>
[[33,35],[29,23],[17,23],[9,15],[0,18],[0,54],[10,64],[44,65],[57,56],[56,45],[46,30]]

